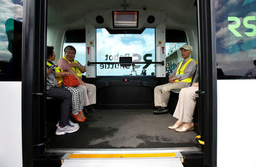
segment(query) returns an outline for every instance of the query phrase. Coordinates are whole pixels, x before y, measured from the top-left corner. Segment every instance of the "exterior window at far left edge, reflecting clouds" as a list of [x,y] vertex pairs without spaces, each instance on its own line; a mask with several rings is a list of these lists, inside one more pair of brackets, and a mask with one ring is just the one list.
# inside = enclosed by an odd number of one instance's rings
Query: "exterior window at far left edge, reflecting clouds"
[[1,1],[0,81],[22,79],[23,1]]

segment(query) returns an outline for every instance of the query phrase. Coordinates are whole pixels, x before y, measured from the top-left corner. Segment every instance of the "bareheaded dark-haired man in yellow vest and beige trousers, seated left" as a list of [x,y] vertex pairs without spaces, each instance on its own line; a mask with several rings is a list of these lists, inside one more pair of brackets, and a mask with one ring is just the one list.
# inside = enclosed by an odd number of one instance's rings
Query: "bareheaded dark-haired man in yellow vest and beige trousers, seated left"
[[96,86],[90,83],[84,83],[82,81],[82,73],[86,72],[86,68],[75,60],[76,49],[68,45],[64,48],[64,57],[58,60],[57,65],[65,72],[73,73],[79,80],[79,87],[84,89],[84,114],[89,115],[89,112],[97,112],[98,110],[93,108],[93,104],[96,104]]

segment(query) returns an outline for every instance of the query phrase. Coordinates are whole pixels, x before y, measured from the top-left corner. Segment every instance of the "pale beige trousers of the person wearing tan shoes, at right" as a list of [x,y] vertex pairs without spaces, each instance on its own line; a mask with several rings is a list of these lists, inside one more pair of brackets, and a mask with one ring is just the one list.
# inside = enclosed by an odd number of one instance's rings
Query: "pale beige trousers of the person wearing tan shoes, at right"
[[179,101],[174,111],[174,117],[180,122],[192,122],[198,97],[198,94],[195,93],[197,90],[198,86],[185,87],[180,90]]

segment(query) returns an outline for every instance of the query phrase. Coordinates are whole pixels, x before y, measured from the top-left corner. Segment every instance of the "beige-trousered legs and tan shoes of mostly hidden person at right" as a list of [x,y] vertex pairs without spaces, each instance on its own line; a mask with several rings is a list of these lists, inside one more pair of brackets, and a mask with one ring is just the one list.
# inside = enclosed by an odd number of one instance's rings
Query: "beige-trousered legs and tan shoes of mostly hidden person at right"
[[174,111],[174,117],[178,120],[173,126],[168,126],[170,130],[176,132],[187,132],[194,130],[193,114],[196,107],[196,98],[198,94],[198,82],[193,83],[191,87],[185,87],[180,90],[179,101]]

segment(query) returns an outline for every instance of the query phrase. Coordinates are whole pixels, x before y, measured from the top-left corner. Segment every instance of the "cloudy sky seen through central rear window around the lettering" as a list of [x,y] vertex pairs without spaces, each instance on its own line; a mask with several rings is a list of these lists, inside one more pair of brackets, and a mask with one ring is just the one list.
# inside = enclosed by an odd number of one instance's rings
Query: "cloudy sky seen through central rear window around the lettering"
[[[155,61],[155,34],[116,34],[110,35],[108,31],[105,29],[97,30],[97,61],[106,61],[105,55],[112,56],[125,56],[125,54],[129,54],[130,57],[133,56],[134,53],[141,55],[141,61],[143,61],[143,56],[146,53],[152,53],[152,61]],[[133,57],[134,60],[137,60],[137,57]],[[117,60],[109,60],[108,61],[117,61]],[[137,74],[141,74],[141,70],[144,64],[140,66],[139,69],[136,69]],[[105,67],[105,66],[104,66]],[[108,66],[107,66],[108,67]],[[112,68],[112,65],[110,66]],[[97,65],[97,75],[119,75],[123,74],[129,75],[132,67],[129,69],[100,69],[100,65]],[[150,65],[147,68],[147,74],[151,74],[151,72],[155,72],[154,65]]]

